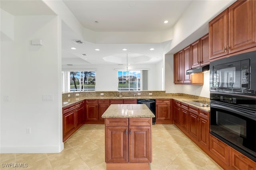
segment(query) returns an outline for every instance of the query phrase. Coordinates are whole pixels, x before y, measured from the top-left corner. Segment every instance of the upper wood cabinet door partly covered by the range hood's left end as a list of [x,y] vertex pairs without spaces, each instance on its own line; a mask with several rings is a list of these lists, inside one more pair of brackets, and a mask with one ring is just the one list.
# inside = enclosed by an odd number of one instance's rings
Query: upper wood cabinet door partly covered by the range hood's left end
[[190,83],[190,74],[186,74],[186,70],[191,68],[191,46],[183,49],[184,54],[184,83]]

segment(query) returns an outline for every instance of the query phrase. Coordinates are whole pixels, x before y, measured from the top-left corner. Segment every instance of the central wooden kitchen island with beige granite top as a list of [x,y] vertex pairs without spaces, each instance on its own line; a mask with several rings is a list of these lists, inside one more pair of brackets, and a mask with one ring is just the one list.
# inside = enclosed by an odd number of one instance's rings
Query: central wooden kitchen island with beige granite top
[[107,170],[149,170],[152,161],[152,117],[145,104],[112,104],[105,118]]

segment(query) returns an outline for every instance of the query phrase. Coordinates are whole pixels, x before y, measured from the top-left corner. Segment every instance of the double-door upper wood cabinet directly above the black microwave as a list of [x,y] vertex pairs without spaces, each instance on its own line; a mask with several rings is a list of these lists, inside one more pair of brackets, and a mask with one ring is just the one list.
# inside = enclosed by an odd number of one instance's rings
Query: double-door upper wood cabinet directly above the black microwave
[[256,47],[256,2],[239,0],[209,22],[210,59]]

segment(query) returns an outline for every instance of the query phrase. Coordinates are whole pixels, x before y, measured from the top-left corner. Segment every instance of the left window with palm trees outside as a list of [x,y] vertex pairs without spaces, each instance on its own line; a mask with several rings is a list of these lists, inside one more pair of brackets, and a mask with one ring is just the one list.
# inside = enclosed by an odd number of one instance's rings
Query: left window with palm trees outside
[[65,71],[62,77],[66,92],[95,91],[95,71]]

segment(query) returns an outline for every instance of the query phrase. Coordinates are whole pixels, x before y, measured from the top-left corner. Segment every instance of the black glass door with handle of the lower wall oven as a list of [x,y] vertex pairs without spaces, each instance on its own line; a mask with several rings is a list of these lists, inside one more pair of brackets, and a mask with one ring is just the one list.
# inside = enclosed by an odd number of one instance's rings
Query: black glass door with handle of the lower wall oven
[[214,102],[210,106],[210,133],[256,158],[255,111]]

